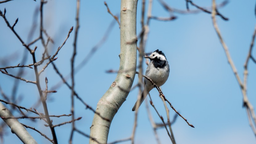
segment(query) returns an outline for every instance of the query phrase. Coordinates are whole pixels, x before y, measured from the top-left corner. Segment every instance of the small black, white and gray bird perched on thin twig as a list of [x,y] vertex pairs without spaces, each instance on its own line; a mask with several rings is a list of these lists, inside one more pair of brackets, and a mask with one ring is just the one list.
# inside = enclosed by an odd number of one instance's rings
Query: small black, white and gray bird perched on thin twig
[[[162,86],[167,81],[170,73],[170,66],[163,51],[159,51],[157,49],[150,56],[146,56],[144,58],[150,59],[145,76],[149,77],[157,87]],[[144,78],[144,90],[142,91],[140,98],[136,101],[132,111],[135,111],[137,105],[139,107],[142,104],[144,99],[147,97],[147,94],[153,88],[154,85]]]

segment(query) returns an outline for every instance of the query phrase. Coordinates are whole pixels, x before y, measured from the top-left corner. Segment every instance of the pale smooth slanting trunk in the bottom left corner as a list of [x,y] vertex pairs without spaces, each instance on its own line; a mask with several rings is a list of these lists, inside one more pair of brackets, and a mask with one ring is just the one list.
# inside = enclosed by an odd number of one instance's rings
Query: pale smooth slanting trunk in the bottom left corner
[[[0,102],[0,116],[1,117],[14,117],[10,111]],[[19,123],[17,119],[3,119],[3,121],[10,127],[11,132],[16,134],[17,137],[24,144],[37,144],[35,139],[27,132],[25,127]]]

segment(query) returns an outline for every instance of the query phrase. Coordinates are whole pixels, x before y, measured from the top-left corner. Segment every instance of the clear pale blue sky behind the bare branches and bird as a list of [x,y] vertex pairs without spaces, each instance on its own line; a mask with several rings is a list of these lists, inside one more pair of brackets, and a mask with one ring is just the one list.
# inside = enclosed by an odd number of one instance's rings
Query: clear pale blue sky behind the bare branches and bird
[[[120,14],[120,1],[106,1],[113,14]],[[141,2],[138,2],[137,17],[137,35],[140,32],[140,11]],[[178,9],[186,9],[185,1],[166,1],[170,6]],[[194,0],[199,6],[211,6],[211,0]],[[220,3],[222,1],[217,1]],[[0,10],[6,8],[6,17],[10,23],[14,23],[17,18],[19,22],[15,26],[17,33],[25,42],[28,41],[28,33],[32,25],[33,14],[39,7],[39,0],[19,1],[14,0],[0,4]],[[148,4],[148,1],[146,2]],[[190,6],[191,9],[195,9]],[[217,17],[221,33],[229,47],[230,54],[237,67],[238,74],[243,78],[243,64],[249,50],[251,37],[254,31],[255,1],[230,1],[219,11],[229,21],[223,21]],[[63,43],[70,27],[75,26],[76,2],[68,0],[49,0],[44,6],[44,27],[48,34],[55,40],[50,45],[52,53]],[[163,10],[159,2],[153,2],[152,15],[167,17],[169,13]],[[151,20],[150,34],[147,41],[146,52],[162,50],[167,57],[171,67],[169,79],[163,85],[163,93],[172,105],[188,121],[195,126],[191,128],[187,123],[177,118],[173,124],[173,132],[176,142],[179,144],[240,144],[255,143],[255,136],[249,126],[246,110],[242,108],[242,93],[237,80],[227,62],[224,50],[213,29],[210,14],[175,14],[178,18],[171,22],[160,22]],[[33,39],[39,35],[39,17],[37,17],[37,27]],[[107,13],[104,1],[81,1],[80,11],[80,29],[78,34],[76,65],[79,64],[88,52],[96,45],[105,31],[109,27],[113,18]],[[116,74],[108,74],[105,71],[109,69],[118,70],[120,52],[120,30],[115,23],[113,30],[109,33],[107,41],[90,56],[89,62],[76,74],[75,89],[77,93],[91,105],[96,108],[98,100],[114,81]],[[74,32],[71,33],[67,43],[58,54],[55,61],[63,75],[70,72],[70,59],[72,55],[72,43]],[[41,58],[43,47],[41,43],[35,43],[37,48],[37,60]],[[0,67],[17,65],[22,60],[24,47],[14,34],[7,28],[6,23],[0,18],[0,58],[7,60],[7,65],[0,64]],[[13,53],[14,56],[10,56]],[[253,51],[253,56],[256,53]],[[31,64],[31,56],[25,64]],[[255,72],[256,65],[249,62],[248,77],[248,97],[250,102],[256,107],[255,98]],[[146,64],[144,64],[144,70]],[[34,70],[25,68],[26,73],[23,77],[29,80],[35,80]],[[8,70],[11,74],[16,74],[17,69]],[[60,81],[59,76],[49,65],[47,70],[41,76],[42,88],[45,88],[44,78],[48,78],[48,86],[52,87]],[[138,81],[137,76],[134,84]],[[69,81],[70,82],[70,81]],[[7,95],[11,95],[14,78],[0,74],[0,86]],[[70,113],[70,90],[63,85],[48,97],[48,109],[50,114],[61,115]],[[138,88],[134,89],[128,95],[118,113],[112,121],[108,142],[130,137],[134,124],[134,112],[131,111],[138,95]],[[20,82],[17,96],[23,99],[19,105],[30,108],[39,95],[34,84]],[[162,101],[158,97],[157,90],[151,92],[153,102],[160,114],[166,120],[165,110]],[[3,99],[1,97],[1,99]],[[82,117],[76,122],[76,126],[89,134],[94,113],[86,110],[80,101],[75,101],[75,117]],[[37,108],[43,112],[42,107]],[[156,122],[161,120],[153,110],[151,113]],[[174,111],[170,109],[171,117]],[[18,113],[14,115],[19,116]],[[31,116],[33,116],[31,114]],[[54,124],[69,121],[71,117],[53,118]],[[31,125],[51,137],[50,130],[45,128],[43,121],[37,120],[37,123],[30,120],[20,120]],[[7,135],[4,136],[4,143],[21,143],[20,140],[5,129]],[[59,143],[68,143],[71,130],[71,124],[56,127],[56,134]],[[28,130],[39,143],[47,143],[47,140],[33,130]],[[164,129],[158,130],[162,143],[170,143],[170,139]],[[89,139],[76,133],[74,143],[88,143]],[[130,143],[130,142],[124,142]],[[139,110],[138,127],[135,137],[136,144],[156,143],[151,124],[147,117],[145,104],[143,103]]]

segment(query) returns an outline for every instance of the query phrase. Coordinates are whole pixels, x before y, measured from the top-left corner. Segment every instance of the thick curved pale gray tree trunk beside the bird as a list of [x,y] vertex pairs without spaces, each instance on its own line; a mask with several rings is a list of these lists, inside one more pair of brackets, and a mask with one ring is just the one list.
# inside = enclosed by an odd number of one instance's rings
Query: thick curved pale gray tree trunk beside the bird
[[[116,79],[97,104],[96,112],[109,119],[106,121],[94,114],[90,127],[90,144],[107,143],[111,121],[126,100],[136,73],[137,36],[136,14],[138,0],[122,0],[120,14],[120,66]],[[95,140],[93,140],[96,139]]]

